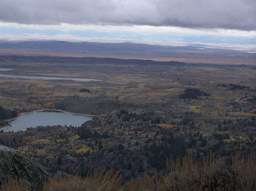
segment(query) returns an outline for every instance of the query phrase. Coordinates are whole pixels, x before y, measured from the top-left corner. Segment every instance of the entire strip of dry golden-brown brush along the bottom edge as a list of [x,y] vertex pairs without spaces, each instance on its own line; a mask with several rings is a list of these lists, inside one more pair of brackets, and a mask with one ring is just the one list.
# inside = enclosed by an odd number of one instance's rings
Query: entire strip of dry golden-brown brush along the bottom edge
[[[139,178],[123,184],[119,171],[103,168],[86,178],[79,176],[57,177],[44,183],[43,191],[210,191],[210,190],[256,190],[256,161],[238,155],[231,158],[232,164],[209,153],[202,161],[191,156],[167,161],[165,174]],[[27,191],[27,184],[11,180],[3,187],[5,191]]]

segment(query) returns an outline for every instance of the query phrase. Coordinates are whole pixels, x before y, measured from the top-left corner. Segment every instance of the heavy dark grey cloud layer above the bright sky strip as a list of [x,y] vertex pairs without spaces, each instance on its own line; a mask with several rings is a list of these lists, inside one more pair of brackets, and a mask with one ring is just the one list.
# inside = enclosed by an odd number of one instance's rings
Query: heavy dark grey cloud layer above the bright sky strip
[[256,30],[256,0],[0,0],[0,20]]

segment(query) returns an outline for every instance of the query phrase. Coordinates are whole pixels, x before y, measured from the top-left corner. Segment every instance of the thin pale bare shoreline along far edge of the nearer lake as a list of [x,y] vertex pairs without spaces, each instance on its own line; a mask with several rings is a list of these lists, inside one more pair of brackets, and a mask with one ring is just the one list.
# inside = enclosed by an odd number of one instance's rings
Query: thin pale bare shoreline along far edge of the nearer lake
[[[22,113],[19,113],[15,118],[10,118],[8,120],[5,120],[5,122],[10,122],[10,121],[13,121],[13,120],[16,120],[18,118],[20,118],[23,114],[29,114],[29,113],[36,113],[36,112],[44,112],[44,111],[57,111],[57,112],[60,112],[60,113],[69,113],[69,114],[72,114],[72,115],[84,115],[84,116],[91,116],[91,117],[95,117],[96,115],[90,115],[90,114],[82,114],[82,113],[72,113],[72,112],[68,112],[68,111],[63,111],[63,110],[60,110],[60,109],[40,109],[40,110],[32,110],[32,111],[29,111],[29,112],[22,112]],[[3,130],[3,129],[6,129],[8,127],[13,127],[11,124],[7,124],[3,127],[0,127],[0,130]]]

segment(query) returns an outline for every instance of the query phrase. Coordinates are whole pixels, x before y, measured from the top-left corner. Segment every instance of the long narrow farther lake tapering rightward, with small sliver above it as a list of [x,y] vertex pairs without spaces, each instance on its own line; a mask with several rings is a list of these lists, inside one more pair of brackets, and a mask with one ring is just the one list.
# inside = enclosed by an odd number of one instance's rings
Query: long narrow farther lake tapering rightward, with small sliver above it
[[[0,71],[10,71],[12,69],[7,68],[0,68]],[[101,80],[95,80],[91,78],[61,78],[61,77],[48,77],[48,76],[18,76],[18,75],[10,75],[10,74],[3,74],[0,73],[0,78],[23,78],[23,79],[29,79],[29,80],[74,80],[74,81],[101,81]]]

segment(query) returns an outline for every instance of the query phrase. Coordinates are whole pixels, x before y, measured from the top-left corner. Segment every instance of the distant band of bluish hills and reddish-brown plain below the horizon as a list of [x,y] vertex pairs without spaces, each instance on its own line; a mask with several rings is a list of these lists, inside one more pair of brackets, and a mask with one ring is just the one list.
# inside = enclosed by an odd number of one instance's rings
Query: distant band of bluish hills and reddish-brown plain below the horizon
[[195,46],[163,46],[132,42],[1,41],[0,55],[70,56],[178,61],[204,64],[256,64],[245,50]]

